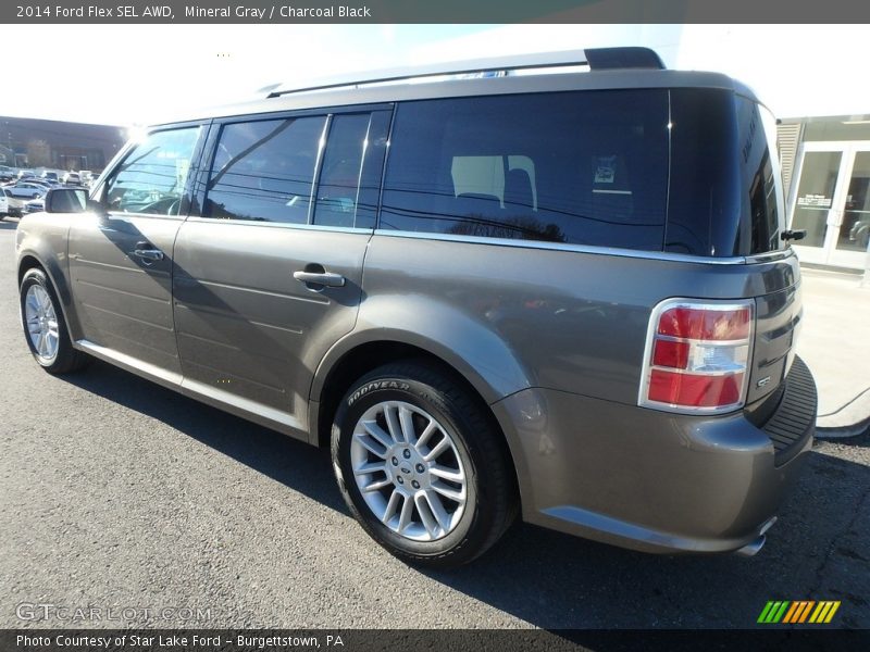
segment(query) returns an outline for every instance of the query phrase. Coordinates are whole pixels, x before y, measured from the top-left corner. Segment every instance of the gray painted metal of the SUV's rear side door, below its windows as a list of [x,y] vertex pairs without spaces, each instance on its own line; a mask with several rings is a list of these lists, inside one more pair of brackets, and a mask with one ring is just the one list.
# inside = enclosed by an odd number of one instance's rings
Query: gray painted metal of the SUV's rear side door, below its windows
[[[313,372],[356,322],[370,237],[188,220],[175,244],[174,280],[185,378],[287,412],[287,425],[306,432]],[[294,278],[312,265],[340,274],[345,285]]]

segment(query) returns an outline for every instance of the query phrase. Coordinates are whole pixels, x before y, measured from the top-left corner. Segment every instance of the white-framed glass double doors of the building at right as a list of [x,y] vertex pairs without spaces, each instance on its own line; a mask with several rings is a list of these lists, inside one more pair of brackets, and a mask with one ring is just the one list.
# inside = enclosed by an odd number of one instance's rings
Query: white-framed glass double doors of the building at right
[[867,142],[804,145],[792,202],[801,261],[862,268],[870,239],[870,146]]

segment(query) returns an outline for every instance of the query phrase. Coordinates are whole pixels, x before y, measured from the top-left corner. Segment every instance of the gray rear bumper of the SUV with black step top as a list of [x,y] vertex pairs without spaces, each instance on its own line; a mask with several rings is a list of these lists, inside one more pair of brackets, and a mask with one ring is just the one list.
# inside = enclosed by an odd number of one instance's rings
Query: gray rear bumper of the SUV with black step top
[[494,405],[526,522],[647,552],[754,547],[812,444],[816,387],[796,359],[779,408],[669,414],[548,389]]

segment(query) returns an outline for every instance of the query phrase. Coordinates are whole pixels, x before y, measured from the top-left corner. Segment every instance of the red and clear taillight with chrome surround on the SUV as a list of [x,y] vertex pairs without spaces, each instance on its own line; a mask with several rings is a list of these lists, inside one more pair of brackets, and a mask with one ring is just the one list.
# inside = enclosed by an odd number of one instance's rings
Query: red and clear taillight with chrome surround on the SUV
[[649,318],[638,403],[707,414],[742,408],[754,324],[750,300],[659,303]]

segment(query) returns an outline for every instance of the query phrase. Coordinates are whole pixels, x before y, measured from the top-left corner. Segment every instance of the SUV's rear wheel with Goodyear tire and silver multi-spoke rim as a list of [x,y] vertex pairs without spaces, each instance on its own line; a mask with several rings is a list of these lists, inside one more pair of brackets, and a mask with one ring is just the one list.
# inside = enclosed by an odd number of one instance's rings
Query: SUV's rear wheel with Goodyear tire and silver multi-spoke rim
[[395,556],[458,566],[488,550],[515,517],[512,465],[484,410],[425,361],[380,367],[341,400],[332,428],[338,488]]

